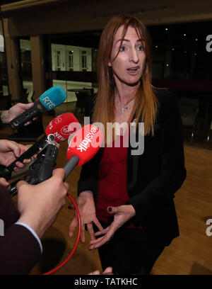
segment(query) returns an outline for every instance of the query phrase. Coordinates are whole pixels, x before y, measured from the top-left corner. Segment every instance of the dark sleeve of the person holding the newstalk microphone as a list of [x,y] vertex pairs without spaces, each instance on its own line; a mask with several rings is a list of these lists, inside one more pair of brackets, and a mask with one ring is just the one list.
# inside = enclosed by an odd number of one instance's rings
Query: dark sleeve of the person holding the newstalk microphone
[[0,236],[0,274],[28,274],[40,260],[40,244],[27,228],[14,225],[18,218],[11,197],[0,186],[0,219],[4,222],[4,235]]

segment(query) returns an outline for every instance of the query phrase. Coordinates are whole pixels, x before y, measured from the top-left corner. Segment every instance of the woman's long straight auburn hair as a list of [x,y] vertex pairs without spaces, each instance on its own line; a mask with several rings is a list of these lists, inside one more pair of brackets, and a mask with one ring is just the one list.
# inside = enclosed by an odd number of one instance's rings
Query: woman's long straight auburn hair
[[[135,28],[139,38],[143,39],[143,50],[146,55],[146,64],[141,77],[141,85],[136,92],[134,108],[129,118],[136,118],[136,126],[141,122],[144,123],[144,135],[154,135],[154,123],[158,108],[158,100],[151,85],[151,57],[149,37],[146,27],[136,17],[128,15],[114,16],[105,26],[100,38],[98,50],[97,73],[98,73],[98,95],[95,99],[93,111],[93,122],[102,123],[105,128],[107,123],[114,123],[114,90],[116,87],[112,67],[108,66],[112,52],[114,37],[120,26],[124,26],[122,41],[129,26]],[[117,56],[116,56],[117,57]]]

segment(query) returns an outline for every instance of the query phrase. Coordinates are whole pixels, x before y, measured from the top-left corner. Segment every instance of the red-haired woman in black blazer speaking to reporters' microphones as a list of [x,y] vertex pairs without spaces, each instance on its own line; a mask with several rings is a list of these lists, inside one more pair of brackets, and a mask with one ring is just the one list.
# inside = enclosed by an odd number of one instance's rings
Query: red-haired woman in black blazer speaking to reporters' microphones
[[[179,235],[173,198],[186,170],[177,102],[151,85],[148,33],[135,17],[115,16],[102,32],[93,122],[107,130],[105,147],[78,181],[81,240],[86,226],[103,270],[148,274]],[[134,128],[139,142],[132,143]],[[74,217],[70,236],[76,225]]]

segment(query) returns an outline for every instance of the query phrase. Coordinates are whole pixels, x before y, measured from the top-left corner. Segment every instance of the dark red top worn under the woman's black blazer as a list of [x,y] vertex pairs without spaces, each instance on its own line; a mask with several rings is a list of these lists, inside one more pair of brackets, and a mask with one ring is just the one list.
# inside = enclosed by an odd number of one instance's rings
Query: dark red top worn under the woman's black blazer
[[[102,222],[112,222],[114,219],[113,215],[107,212],[108,206],[118,207],[129,200],[126,190],[127,147],[123,147],[123,136],[118,137],[120,146],[115,147],[113,142],[112,147],[104,147],[100,160],[96,215]],[[135,226],[131,224],[128,227]]]

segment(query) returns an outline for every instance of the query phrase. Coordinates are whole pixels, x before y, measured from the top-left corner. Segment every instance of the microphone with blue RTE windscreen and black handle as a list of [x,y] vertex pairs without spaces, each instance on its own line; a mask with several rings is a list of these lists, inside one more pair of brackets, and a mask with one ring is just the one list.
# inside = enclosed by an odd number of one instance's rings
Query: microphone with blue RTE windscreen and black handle
[[62,89],[61,86],[53,86],[45,91],[40,98],[35,101],[32,108],[11,120],[9,125],[11,128],[20,128],[29,120],[33,120],[35,116],[40,115],[40,113],[45,113],[46,111],[51,111],[56,108],[63,103],[65,99],[66,92],[64,89]]

